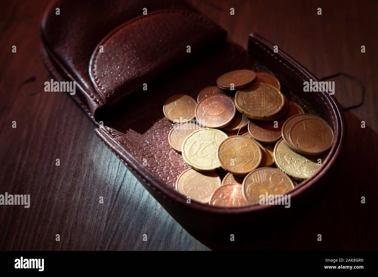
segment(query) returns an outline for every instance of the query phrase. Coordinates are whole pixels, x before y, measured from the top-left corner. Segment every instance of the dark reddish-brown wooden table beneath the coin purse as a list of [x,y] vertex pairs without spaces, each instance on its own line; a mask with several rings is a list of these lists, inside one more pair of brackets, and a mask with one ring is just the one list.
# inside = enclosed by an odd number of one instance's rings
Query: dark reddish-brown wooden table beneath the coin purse
[[[92,122],[68,95],[43,91],[50,76],[39,56],[38,28],[47,3],[8,1],[1,12],[0,194],[30,194],[31,207],[0,206],[0,249],[208,250],[101,143]],[[318,77],[346,72],[366,85],[364,105],[345,112],[346,143],[324,197],[314,199],[305,216],[277,228],[254,249],[376,250],[377,3],[193,3],[243,47],[255,31]],[[17,53],[12,53],[13,45]],[[355,83],[343,77],[335,83],[335,96],[344,106],[360,101]],[[366,204],[361,204],[362,196]]]

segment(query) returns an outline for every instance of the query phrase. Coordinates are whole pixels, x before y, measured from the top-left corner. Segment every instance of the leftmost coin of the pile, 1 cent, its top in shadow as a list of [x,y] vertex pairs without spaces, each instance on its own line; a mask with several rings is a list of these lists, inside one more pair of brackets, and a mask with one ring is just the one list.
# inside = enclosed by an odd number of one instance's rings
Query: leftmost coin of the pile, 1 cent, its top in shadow
[[171,122],[183,123],[194,118],[196,101],[189,95],[177,94],[164,103],[164,116]]

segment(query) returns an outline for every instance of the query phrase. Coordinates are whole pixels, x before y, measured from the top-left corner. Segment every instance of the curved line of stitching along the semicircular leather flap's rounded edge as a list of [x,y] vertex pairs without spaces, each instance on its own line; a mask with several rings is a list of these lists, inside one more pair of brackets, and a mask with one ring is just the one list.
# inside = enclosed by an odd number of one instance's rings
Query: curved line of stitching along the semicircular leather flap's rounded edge
[[[211,21],[209,21],[207,18],[201,16],[200,14],[194,14],[193,12],[188,12],[188,11],[181,11],[181,10],[177,10],[177,11],[170,11],[170,10],[165,10],[165,11],[160,11],[160,12],[156,12],[153,15],[158,15],[158,14],[164,14],[164,13],[178,13],[178,14],[184,14],[186,15],[188,18],[191,18],[191,17],[195,17],[199,20],[201,20],[202,22],[204,22],[205,24],[207,24],[207,26],[209,26],[211,29],[214,29],[214,30],[221,30],[223,31],[223,29],[216,25],[217,28],[215,28],[214,24],[211,23]],[[122,25],[118,28],[116,28],[112,34],[110,34],[105,40],[101,41],[100,44],[102,45],[105,45],[108,40],[110,40],[111,38],[113,38],[116,34],[118,34],[122,29],[130,26],[130,24],[134,23],[135,21],[138,21],[138,20],[141,20],[141,19],[144,19],[144,17],[137,17],[137,18],[134,18],[133,20],[129,21],[129,23],[125,24],[125,25]],[[92,72],[93,72],[93,77],[97,83],[97,86],[99,88],[102,89],[102,91],[105,93],[105,98],[108,98],[110,96],[110,93],[111,92],[106,92],[106,90],[104,89],[104,87],[102,86],[101,82],[100,82],[100,79],[98,78],[98,75],[97,75],[97,71],[96,71],[96,63],[97,63],[97,60],[98,60],[98,57],[99,57],[99,52],[96,52],[96,55],[95,57],[93,58],[93,65],[92,65]]]

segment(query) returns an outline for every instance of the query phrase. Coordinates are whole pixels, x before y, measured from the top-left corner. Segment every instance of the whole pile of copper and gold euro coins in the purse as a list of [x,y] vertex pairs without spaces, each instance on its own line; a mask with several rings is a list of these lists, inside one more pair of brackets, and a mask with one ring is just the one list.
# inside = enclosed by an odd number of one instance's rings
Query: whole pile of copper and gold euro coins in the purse
[[225,73],[197,101],[171,96],[163,112],[174,123],[169,144],[191,167],[178,176],[176,190],[220,207],[288,193],[318,170],[334,139],[327,122],[289,101],[265,72]]

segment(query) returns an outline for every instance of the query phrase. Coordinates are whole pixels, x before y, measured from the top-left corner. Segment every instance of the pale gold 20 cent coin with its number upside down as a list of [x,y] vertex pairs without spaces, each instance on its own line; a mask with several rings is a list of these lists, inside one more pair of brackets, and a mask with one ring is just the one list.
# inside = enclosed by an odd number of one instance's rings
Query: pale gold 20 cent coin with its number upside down
[[217,159],[219,144],[228,136],[217,129],[195,130],[184,139],[182,155],[184,161],[195,170],[211,171],[220,167]]

